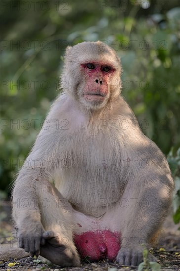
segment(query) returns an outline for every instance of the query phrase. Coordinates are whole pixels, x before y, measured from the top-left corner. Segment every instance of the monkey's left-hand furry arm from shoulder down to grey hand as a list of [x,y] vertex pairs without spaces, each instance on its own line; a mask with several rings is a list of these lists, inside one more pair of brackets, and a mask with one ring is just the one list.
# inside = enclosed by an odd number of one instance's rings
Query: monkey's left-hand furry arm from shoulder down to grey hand
[[60,137],[60,131],[56,128],[56,123],[47,117],[13,189],[13,218],[18,229],[19,245],[36,256],[39,254],[40,243],[44,243],[44,228],[39,210],[40,199],[35,187],[38,181],[53,180],[55,165],[58,163]]

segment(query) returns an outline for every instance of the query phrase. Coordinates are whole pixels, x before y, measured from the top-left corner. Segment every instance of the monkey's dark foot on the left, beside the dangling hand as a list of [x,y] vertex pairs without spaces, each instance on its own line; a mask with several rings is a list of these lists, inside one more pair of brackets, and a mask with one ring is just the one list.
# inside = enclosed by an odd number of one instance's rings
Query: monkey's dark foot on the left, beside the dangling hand
[[73,242],[52,231],[44,232],[46,240],[40,247],[40,255],[62,267],[80,265],[79,255]]

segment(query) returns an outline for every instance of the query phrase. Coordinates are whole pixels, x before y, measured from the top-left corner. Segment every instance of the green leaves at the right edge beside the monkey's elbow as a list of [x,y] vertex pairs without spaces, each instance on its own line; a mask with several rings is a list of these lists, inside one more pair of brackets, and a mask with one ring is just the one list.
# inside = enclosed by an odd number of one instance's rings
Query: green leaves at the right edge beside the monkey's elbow
[[[173,220],[175,224],[180,222],[180,148],[173,156],[173,149],[168,154],[168,163],[175,182],[175,195],[173,198]],[[180,229],[180,228],[179,228]]]

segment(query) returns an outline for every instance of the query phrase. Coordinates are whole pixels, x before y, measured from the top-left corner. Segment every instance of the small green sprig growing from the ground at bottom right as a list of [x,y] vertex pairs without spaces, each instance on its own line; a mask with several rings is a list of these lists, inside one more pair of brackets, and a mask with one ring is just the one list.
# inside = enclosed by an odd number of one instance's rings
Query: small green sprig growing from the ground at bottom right
[[139,264],[138,271],[160,271],[161,265],[157,262],[149,262],[148,260],[148,250],[144,249],[143,251],[143,263]]

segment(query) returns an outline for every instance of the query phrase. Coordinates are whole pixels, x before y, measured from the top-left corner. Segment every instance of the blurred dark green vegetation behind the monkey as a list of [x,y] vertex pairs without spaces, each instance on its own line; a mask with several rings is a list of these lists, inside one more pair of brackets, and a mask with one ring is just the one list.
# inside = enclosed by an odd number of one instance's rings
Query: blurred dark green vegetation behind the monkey
[[[179,0],[2,0],[0,4],[1,196],[10,194],[15,174],[60,92],[58,77],[66,46],[97,40],[121,58],[122,95],[144,134],[168,156],[180,196]],[[177,201],[175,212],[178,206]]]

